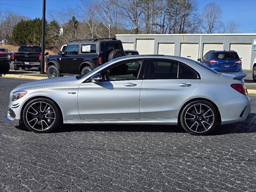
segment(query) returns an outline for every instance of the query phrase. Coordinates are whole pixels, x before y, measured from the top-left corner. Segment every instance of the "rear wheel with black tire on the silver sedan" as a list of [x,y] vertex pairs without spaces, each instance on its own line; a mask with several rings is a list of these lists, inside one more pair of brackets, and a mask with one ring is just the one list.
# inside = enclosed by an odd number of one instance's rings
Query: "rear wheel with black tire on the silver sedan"
[[181,126],[192,135],[210,134],[214,130],[217,120],[216,108],[210,102],[204,100],[188,103],[180,113]]

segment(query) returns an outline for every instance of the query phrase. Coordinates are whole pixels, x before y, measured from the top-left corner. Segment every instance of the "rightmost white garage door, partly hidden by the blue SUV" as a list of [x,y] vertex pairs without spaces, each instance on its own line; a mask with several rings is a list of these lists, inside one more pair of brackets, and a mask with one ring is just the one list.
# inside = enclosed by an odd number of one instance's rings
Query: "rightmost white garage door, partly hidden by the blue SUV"
[[230,44],[230,50],[236,51],[238,56],[242,58],[243,69],[250,69],[252,44]]

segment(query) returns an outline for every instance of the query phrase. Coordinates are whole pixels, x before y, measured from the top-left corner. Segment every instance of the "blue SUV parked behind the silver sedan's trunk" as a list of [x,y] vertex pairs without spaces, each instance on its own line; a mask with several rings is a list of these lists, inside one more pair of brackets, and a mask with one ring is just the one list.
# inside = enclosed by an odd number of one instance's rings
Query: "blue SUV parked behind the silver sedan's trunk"
[[242,72],[242,61],[235,51],[210,50],[198,61],[218,72]]

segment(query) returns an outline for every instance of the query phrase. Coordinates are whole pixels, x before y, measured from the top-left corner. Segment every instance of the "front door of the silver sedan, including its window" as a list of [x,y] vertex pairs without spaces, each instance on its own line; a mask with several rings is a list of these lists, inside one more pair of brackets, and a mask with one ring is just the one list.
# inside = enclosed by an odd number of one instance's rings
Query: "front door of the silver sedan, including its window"
[[139,71],[142,60],[126,61],[102,70],[102,82],[84,82],[78,90],[81,119],[140,118]]

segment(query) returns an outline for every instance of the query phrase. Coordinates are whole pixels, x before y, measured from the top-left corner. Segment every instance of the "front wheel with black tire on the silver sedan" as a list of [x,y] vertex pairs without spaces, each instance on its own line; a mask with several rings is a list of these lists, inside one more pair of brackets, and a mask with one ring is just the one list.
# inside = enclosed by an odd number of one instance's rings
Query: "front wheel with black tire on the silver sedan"
[[36,98],[26,104],[22,118],[24,125],[29,130],[36,133],[48,133],[60,125],[62,113],[54,101],[47,98]]

